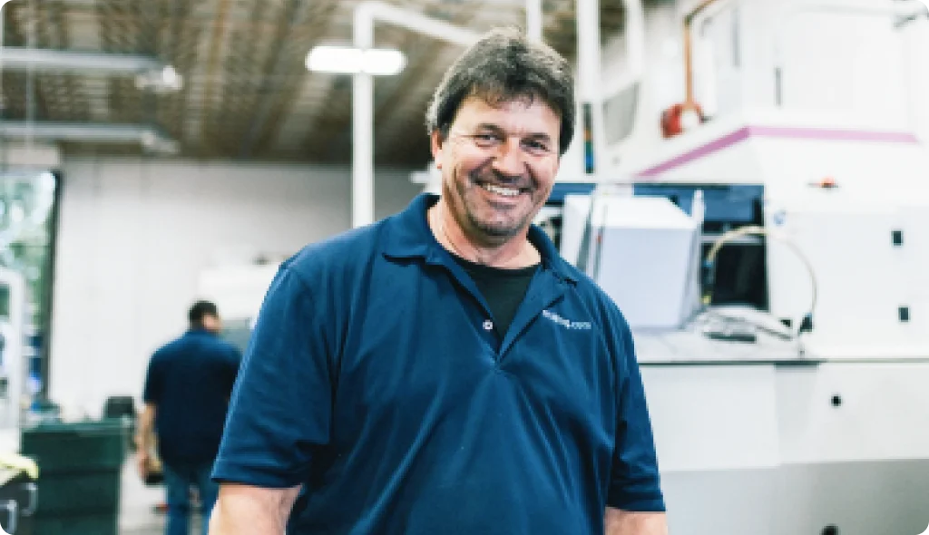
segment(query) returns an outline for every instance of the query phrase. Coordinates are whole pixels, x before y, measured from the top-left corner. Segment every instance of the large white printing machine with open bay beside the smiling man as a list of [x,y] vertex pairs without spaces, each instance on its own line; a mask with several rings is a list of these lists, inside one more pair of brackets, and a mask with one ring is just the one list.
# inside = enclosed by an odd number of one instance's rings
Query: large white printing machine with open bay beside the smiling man
[[543,212],[633,327],[671,533],[925,535],[929,151],[739,121]]

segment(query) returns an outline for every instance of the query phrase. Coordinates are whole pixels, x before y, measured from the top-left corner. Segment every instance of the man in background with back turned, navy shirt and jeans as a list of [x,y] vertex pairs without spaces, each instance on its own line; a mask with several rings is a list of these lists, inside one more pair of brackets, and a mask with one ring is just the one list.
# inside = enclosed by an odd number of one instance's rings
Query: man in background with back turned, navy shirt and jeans
[[216,305],[198,301],[188,318],[190,331],[151,357],[136,437],[138,469],[144,478],[154,424],[164,469],[167,535],[188,533],[191,487],[199,493],[203,533],[207,532],[217,492],[210,473],[241,360],[239,350],[218,337],[222,324]]

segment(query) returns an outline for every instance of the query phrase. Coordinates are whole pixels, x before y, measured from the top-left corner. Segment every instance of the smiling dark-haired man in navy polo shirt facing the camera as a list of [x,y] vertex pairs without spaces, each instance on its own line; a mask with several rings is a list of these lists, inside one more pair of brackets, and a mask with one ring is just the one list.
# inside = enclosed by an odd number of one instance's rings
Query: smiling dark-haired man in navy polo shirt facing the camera
[[213,535],[289,516],[294,534],[666,532],[628,326],[530,225],[574,117],[568,63],[518,33],[451,66],[427,114],[441,197],[272,283]]

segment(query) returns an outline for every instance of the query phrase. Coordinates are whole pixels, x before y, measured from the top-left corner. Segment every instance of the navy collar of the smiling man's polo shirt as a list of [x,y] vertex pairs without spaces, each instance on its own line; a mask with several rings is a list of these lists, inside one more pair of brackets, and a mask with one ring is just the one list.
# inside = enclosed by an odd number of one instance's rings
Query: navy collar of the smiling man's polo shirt
[[[387,221],[383,253],[388,258],[423,258],[430,264],[446,262],[446,251],[436,241],[426,221],[426,211],[438,202],[438,195],[421,193],[409,206]],[[558,254],[542,228],[532,225],[529,240],[542,256],[543,267],[550,269],[559,279],[577,282],[578,277],[570,265]]]

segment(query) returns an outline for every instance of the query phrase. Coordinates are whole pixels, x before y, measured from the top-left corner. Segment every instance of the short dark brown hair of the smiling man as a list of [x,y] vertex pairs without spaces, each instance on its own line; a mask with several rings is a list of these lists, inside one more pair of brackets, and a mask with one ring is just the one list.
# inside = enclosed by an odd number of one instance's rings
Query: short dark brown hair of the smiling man
[[429,134],[442,139],[465,98],[483,98],[491,106],[541,98],[561,118],[558,153],[574,136],[574,80],[568,61],[553,48],[533,43],[516,28],[498,28],[464,51],[442,78],[425,113]]

